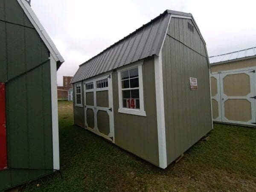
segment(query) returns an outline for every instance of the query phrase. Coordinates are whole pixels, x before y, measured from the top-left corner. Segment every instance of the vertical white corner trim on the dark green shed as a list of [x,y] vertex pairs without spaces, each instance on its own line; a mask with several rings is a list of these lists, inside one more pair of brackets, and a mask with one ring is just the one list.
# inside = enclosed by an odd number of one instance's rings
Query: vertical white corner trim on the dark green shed
[[59,135],[58,135],[58,96],[57,96],[57,66],[56,60],[50,54],[51,94],[52,94],[52,153],[53,169],[60,169]]

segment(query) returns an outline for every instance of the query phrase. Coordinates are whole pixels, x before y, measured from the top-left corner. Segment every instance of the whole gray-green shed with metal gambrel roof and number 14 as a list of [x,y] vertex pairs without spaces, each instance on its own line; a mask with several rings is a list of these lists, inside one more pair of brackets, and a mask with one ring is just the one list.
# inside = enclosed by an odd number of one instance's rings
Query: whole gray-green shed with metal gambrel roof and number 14
[[189,13],[166,10],[71,83],[76,125],[163,169],[212,130],[207,49]]

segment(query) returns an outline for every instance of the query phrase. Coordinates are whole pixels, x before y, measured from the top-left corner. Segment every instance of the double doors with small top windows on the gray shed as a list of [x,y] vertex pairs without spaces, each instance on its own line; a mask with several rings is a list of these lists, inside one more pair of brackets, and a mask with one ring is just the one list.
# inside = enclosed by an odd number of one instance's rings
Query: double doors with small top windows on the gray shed
[[85,127],[115,142],[111,74],[84,82]]

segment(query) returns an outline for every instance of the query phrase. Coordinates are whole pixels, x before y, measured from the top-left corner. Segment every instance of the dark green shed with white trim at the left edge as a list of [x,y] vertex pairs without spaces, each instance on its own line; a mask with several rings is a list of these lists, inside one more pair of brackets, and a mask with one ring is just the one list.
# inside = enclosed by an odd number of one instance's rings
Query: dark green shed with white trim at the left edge
[[60,169],[57,69],[64,62],[26,0],[0,0],[0,191]]

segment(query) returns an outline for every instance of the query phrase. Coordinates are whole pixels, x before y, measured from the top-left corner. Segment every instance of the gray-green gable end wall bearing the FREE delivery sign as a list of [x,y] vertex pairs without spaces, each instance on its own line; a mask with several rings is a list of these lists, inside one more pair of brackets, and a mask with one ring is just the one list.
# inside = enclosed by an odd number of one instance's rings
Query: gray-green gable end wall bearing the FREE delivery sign
[[[207,50],[188,21],[170,20],[162,49],[167,165],[212,129]],[[190,90],[189,77],[198,90]]]

